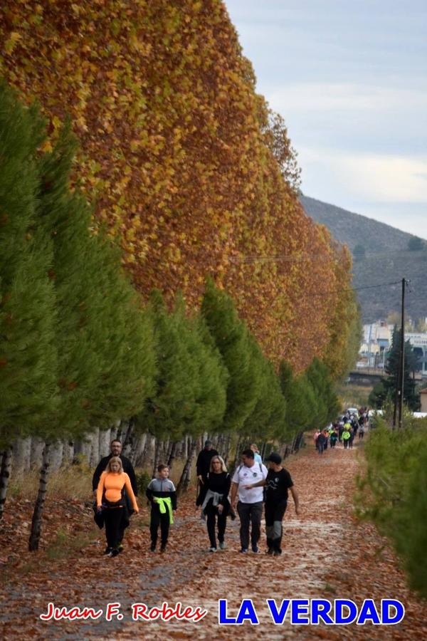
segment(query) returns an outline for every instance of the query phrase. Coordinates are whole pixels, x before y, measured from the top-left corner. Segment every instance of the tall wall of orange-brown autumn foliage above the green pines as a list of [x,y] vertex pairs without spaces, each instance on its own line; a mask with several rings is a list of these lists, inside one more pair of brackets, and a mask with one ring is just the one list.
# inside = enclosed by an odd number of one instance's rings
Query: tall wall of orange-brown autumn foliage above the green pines
[[53,139],[72,116],[73,182],[94,226],[120,238],[137,289],[159,288],[168,305],[181,289],[194,310],[209,275],[275,367],[325,360],[341,306],[334,251],[298,202],[288,132],[256,93],[225,4],[60,9],[1,2],[0,72],[38,97]]

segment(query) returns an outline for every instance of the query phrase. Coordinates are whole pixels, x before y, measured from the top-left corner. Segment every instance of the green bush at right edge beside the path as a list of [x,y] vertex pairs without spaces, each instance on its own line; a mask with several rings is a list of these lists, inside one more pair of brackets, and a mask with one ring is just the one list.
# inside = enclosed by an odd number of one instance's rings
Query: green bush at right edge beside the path
[[365,446],[357,511],[386,535],[401,557],[411,588],[427,598],[427,421],[391,430],[379,419]]

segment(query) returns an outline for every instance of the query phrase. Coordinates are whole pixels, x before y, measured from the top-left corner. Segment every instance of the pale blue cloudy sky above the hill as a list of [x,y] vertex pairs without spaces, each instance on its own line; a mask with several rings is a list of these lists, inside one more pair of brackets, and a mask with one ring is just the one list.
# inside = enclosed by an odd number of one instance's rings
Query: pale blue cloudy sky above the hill
[[427,0],[225,0],[310,197],[427,239]]

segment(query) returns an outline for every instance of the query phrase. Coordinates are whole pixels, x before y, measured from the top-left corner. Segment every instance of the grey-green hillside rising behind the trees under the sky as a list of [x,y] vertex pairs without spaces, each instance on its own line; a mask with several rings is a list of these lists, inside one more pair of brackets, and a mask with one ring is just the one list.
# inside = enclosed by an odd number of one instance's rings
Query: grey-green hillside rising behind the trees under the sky
[[[427,316],[427,241],[421,251],[409,251],[408,241],[413,236],[405,231],[307,196],[301,196],[300,202],[315,222],[327,226],[332,236],[347,244],[350,251],[357,245],[364,247],[364,258],[353,259],[355,288],[408,278],[411,291],[406,297],[406,312],[413,319]],[[357,294],[364,323],[400,311],[400,283],[362,289]]]

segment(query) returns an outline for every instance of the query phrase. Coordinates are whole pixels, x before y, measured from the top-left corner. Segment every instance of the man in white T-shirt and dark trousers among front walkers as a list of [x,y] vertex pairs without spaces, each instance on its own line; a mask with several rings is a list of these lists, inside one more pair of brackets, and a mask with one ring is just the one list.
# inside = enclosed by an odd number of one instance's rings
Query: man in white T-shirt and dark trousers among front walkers
[[[253,451],[245,449],[241,454],[242,464],[236,469],[231,483],[231,506],[236,509],[241,520],[241,552],[248,552],[249,527],[251,528],[251,546],[254,553],[259,553],[261,517],[263,516],[263,488],[244,486],[255,484],[267,477],[267,468],[262,463],[255,463]],[[238,503],[237,503],[238,492]]]

